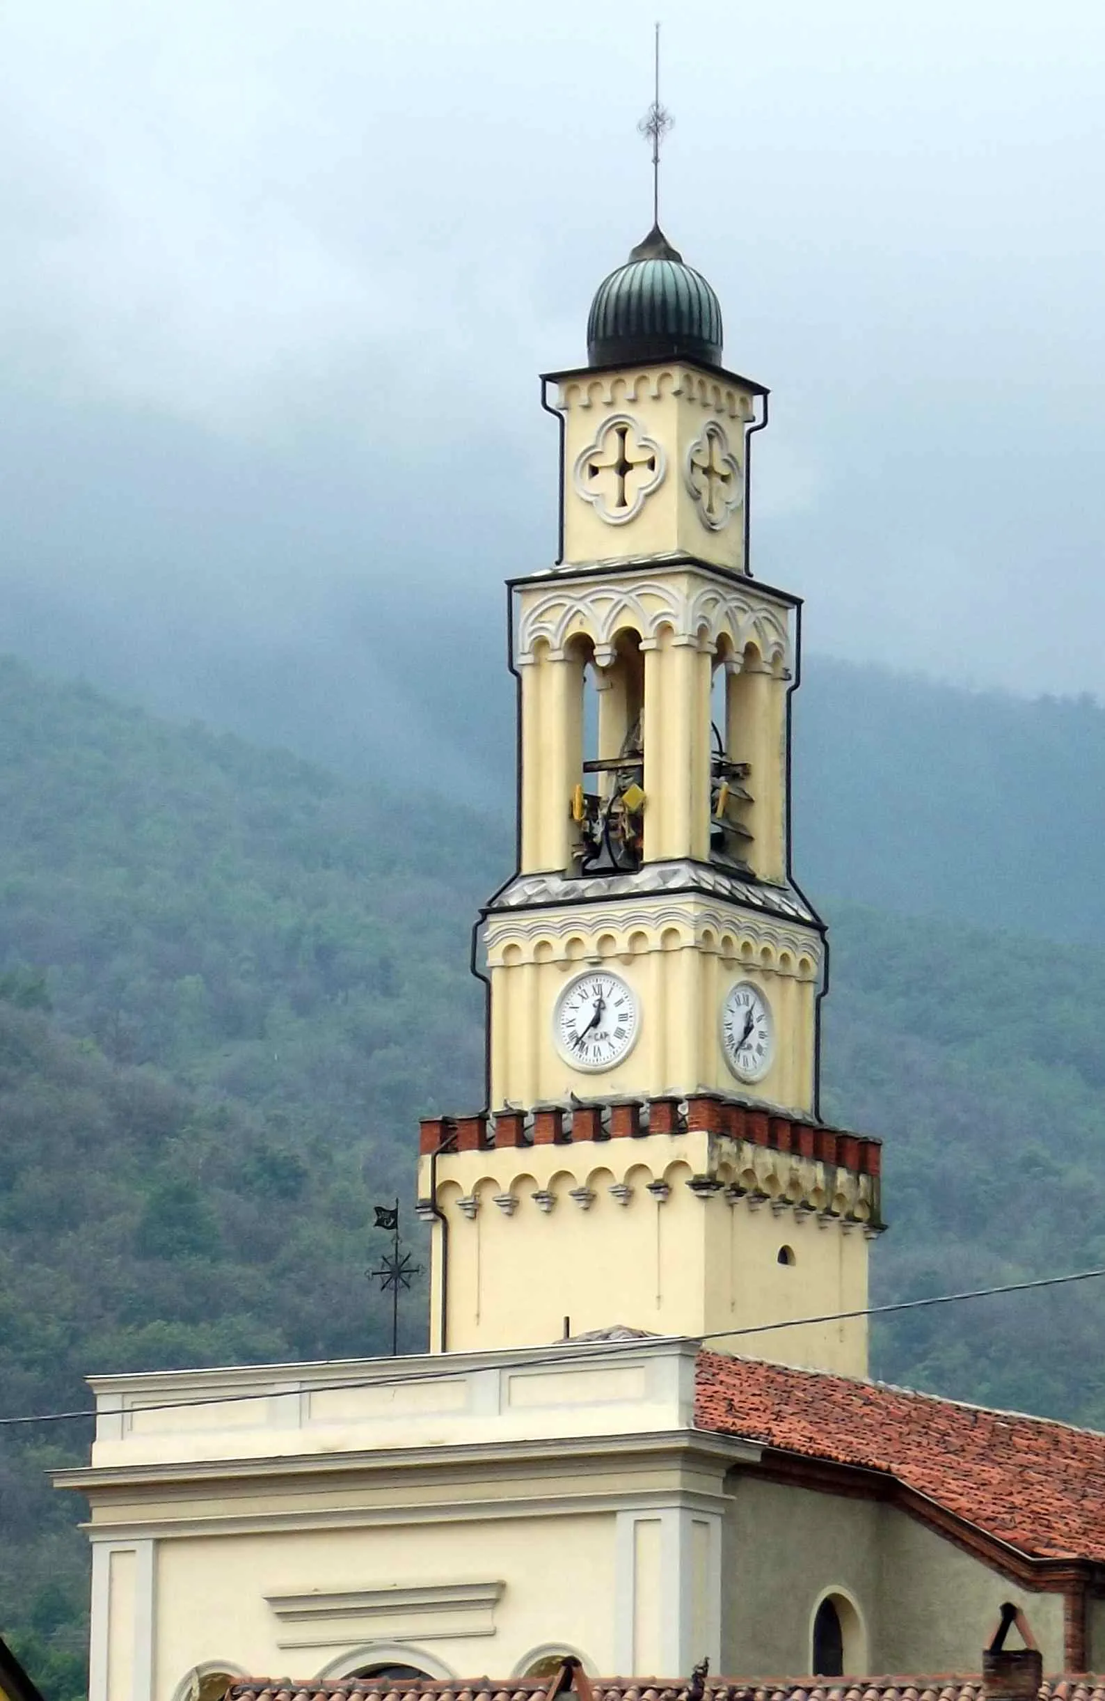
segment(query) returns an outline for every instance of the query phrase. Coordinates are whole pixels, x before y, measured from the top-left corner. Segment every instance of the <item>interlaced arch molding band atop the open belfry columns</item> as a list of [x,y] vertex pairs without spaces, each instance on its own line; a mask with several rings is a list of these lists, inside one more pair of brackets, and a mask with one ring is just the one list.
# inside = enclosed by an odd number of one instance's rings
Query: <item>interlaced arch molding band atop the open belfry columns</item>
[[654,645],[666,628],[673,643],[706,650],[716,650],[726,638],[731,667],[740,667],[745,650],[753,648],[772,668],[792,670],[794,646],[785,609],[756,595],[751,583],[721,585],[711,580],[702,585],[680,582],[680,577],[549,589],[522,607],[515,660],[532,663],[542,643],[559,658],[573,638],[590,638],[597,665],[609,667],[619,631],[627,628],[638,633],[643,645]]

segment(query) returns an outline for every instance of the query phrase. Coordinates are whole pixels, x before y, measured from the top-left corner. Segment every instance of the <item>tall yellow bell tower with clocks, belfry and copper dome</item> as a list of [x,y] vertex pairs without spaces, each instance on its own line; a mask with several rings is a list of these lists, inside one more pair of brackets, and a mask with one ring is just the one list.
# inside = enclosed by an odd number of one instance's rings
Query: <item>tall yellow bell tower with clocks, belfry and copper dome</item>
[[[767,390],[658,226],[542,379],[561,549],[517,578],[518,866],[478,924],[488,1109],[422,1124],[432,1345],[629,1325],[865,1374],[876,1140],[818,1114],[790,878],[799,599],[751,577]],[[762,1330],[762,1332],[756,1332]]]

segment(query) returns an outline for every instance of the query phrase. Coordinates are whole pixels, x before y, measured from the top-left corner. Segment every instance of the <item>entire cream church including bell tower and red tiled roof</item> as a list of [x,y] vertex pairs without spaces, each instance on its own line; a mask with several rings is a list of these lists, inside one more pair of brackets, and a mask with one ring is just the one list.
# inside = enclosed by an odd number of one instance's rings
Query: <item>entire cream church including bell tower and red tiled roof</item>
[[819,1116],[801,609],[750,572],[767,391],[653,230],[544,400],[561,549],[512,585],[488,1101],[420,1135],[430,1352],[94,1383],[58,1476],[92,1509],[90,1701],[564,1655],[920,1682],[978,1670],[1006,1601],[1085,1670],[1105,1437],[867,1380],[881,1146]]

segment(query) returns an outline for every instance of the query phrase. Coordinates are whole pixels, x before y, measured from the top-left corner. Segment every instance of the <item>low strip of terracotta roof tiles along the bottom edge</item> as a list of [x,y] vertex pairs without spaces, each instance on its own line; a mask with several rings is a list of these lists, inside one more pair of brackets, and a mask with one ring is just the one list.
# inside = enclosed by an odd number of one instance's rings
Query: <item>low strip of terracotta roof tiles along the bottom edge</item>
[[[226,1691],[226,1701],[541,1701],[547,1677],[243,1677]],[[668,1677],[592,1677],[592,1701],[687,1701],[688,1682]],[[955,1677],[755,1677],[707,1681],[702,1701],[983,1701],[983,1679]],[[1105,1701],[1105,1682],[1091,1675],[1046,1679],[1039,1701]]]

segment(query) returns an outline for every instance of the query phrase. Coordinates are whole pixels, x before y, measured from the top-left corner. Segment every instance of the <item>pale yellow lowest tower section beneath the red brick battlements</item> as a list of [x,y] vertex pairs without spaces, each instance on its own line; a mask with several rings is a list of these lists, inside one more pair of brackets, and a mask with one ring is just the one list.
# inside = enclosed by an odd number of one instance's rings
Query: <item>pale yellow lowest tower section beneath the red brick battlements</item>
[[[428,1169],[423,1158],[422,1189]],[[450,1349],[552,1342],[570,1318],[571,1334],[612,1323],[695,1337],[731,1328],[711,1344],[845,1374],[867,1369],[864,1318],[738,1334],[865,1306],[867,1177],[702,1129],[464,1152],[437,1170],[450,1237]],[[716,1191],[695,1192],[695,1177]],[[731,1196],[733,1186],[750,1191]],[[826,1204],[842,1215],[828,1216]],[[440,1226],[434,1262],[440,1281]]]

